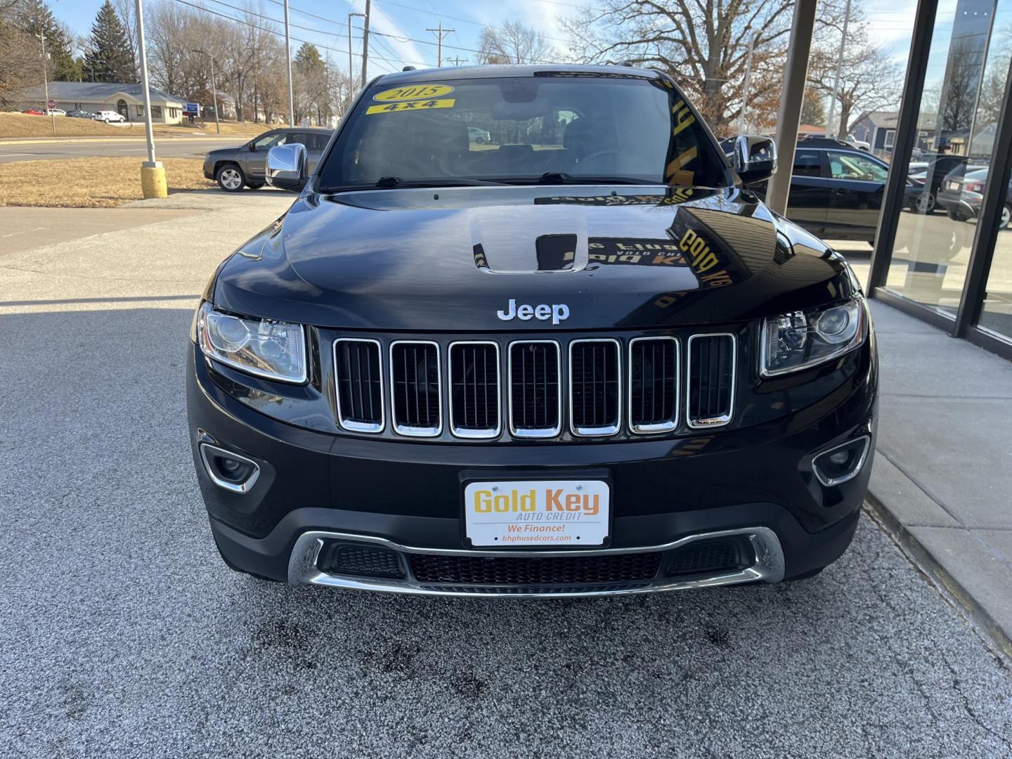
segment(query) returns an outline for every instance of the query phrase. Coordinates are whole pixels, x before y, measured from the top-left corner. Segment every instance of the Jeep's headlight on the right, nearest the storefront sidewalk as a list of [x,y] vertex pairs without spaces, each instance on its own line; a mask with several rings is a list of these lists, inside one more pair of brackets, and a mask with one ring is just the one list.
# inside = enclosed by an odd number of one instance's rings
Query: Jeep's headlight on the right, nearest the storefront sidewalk
[[867,335],[863,299],[809,311],[793,311],[763,322],[760,371],[786,374],[853,350]]

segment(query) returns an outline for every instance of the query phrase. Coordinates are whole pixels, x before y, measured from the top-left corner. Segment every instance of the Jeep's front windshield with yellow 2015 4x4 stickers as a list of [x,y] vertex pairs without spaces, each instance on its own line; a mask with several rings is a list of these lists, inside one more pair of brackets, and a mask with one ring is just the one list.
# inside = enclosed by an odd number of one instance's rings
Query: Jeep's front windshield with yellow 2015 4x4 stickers
[[320,189],[612,181],[720,186],[724,159],[667,82],[559,75],[374,85]]

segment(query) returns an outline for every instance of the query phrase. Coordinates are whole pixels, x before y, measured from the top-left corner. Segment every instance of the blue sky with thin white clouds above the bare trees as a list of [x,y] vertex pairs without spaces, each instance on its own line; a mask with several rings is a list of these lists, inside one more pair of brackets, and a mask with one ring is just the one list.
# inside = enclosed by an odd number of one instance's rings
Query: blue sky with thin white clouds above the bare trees
[[[242,6],[242,0],[199,0],[208,10],[231,16],[240,13],[229,6]],[[899,61],[906,61],[910,29],[917,0],[855,0],[871,21],[872,35],[889,48]],[[102,0],[50,0],[54,14],[78,34],[86,35]],[[257,0],[257,12],[278,21],[282,18],[280,0]],[[371,30],[382,32],[369,44],[369,73],[400,70],[403,66],[435,66],[436,27],[454,29],[443,37],[443,64],[455,57],[475,63],[479,35],[485,24],[498,26],[509,19],[540,29],[549,41],[565,50],[566,34],[560,16],[573,14],[594,0],[373,0]],[[945,2],[943,0],[942,5]],[[335,64],[347,67],[347,14],[362,12],[364,0],[289,0],[291,35],[331,49]],[[328,20],[323,20],[328,19]],[[361,19],[353,19],[353,28],[361,28]],[[361,50],[360,31],[353,30],[353,51]],[[384,36],[390,34],[392,36]],[[299,41],[292,41],[298,48]],[[322,51],[326,55],[326,51]]]

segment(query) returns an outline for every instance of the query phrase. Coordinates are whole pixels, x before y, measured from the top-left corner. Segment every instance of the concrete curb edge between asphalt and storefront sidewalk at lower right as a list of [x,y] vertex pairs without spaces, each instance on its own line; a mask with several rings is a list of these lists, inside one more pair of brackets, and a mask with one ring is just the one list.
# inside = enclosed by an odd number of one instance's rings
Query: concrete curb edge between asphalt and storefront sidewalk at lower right
[[868,492],[864,511],[900,546],[907,558],[921,570],[932,585],[953,606],[969,618],[971,626],[984,639],[995,655],[1012,666],[1012,638],[985,609],[973,594],[946,570],[920,540],[890,511],[878,498]]

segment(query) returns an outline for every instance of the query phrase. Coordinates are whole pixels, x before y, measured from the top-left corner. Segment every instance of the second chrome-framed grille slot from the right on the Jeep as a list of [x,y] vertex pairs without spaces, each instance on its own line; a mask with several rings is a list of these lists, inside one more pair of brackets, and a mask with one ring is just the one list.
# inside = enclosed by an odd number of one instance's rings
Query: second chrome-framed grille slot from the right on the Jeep
[[679,344],[674,337],[629,341],[628,425],[638,434],[668,432],[678,426]]

